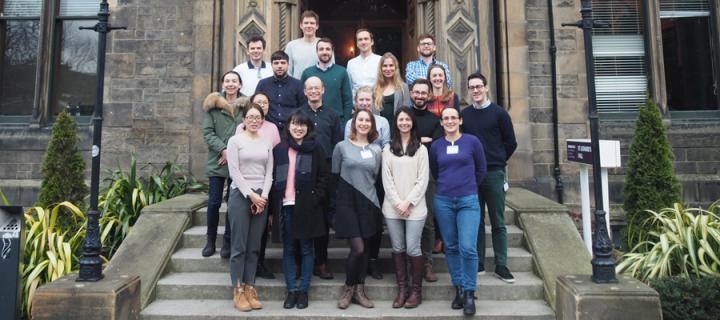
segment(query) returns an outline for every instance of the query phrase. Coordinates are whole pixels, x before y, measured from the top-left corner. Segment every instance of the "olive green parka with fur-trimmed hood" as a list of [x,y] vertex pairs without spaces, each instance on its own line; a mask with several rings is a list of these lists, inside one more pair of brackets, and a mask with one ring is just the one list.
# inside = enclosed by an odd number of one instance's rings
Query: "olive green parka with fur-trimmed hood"
[[208,145],[207,177],[228,177],[227,164],[221,166],[217,161],[220,153],[227,148],[228,140],[235,134],[235,128],[242,123],[242,108],[247,101],[247,97],[240,96],[231,104],[221,92],[213,92],[205,98],[202,132]]

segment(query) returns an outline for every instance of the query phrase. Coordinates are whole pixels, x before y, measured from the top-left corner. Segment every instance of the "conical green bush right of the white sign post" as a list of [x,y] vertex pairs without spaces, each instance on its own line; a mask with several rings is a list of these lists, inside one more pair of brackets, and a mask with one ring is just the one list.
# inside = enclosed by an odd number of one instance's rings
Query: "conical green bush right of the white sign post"
[[[680,202],[680,183],[673,170],[674,156],[665,135],[660,109],[651,99],[640,108],[625,175],[625,247],[632,249],[657,230],[646,210]],[[648,249],[641,247],[640,250]]]

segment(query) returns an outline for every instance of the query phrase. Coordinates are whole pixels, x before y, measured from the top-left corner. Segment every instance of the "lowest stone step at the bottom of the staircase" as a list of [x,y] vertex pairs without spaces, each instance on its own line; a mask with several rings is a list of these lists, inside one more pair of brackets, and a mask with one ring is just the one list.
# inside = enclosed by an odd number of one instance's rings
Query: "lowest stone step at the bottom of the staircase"
[[[310,300],[306,309],[283,309],[281,302],[266,302],[263,309],[240,312],[231,299],[223,300],[157,300],[141,312],[145,320],[203,319],[468,319],[462,310],[450,308],[450,301],[423,301],[415,309],[393,309],[391,301],[375,301],[375,308],[351,305],[341,310],[336,301]],[[473,319],[483,320],[551,320],[555,313],[543,300],[478,300]]]

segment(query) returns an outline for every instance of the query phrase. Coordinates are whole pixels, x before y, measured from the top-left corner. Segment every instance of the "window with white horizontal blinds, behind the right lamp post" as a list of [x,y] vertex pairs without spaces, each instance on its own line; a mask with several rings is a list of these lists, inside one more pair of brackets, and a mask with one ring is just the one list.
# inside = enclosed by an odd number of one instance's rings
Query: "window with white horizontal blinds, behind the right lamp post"
[[637,111],[647,95],[645,42],[640,0],[594,0],[593,30],[598,112]]

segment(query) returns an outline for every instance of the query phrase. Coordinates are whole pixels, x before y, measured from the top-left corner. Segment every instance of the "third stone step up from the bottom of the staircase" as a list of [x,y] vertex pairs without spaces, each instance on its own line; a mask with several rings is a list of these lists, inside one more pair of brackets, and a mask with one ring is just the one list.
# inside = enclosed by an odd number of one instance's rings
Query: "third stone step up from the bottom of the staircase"
[[[345,270],[345,260],[348,255],[348,248],[329,248],[328,264],[332,272],[340,273]],[[177,250],[170,259],[169,271],[172,272],[228,272],[229,262],[221,259],[218,253],[210,257],[203,257],[200,252],[202,248],[181,248]],[[391,249],[381,248],[378,265],[381,272],[394,272],[393,263],[390,260]],[[485,270],[495,269],[493,261],[494,253],[491,248],[485,250]],[[532,255],[523,248],[508,248],[508,268],[511,272],[531,272]],[[265,266],[274,273],[282,272],[282,249],[267,248],[265,251]],[[433,266],[436,272],[447,272],[445,255],[433,255]]]

